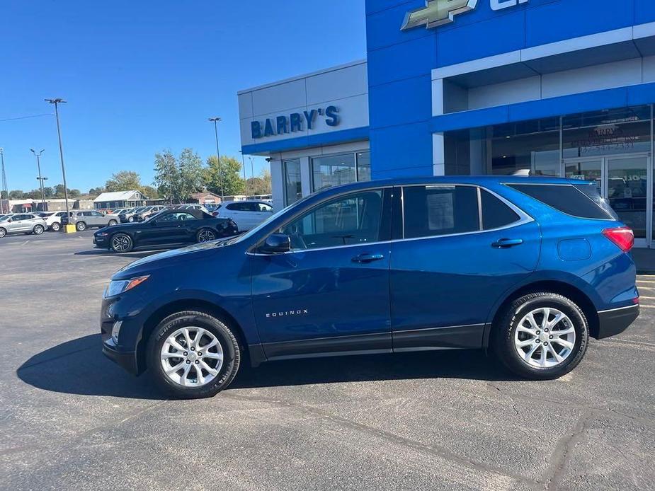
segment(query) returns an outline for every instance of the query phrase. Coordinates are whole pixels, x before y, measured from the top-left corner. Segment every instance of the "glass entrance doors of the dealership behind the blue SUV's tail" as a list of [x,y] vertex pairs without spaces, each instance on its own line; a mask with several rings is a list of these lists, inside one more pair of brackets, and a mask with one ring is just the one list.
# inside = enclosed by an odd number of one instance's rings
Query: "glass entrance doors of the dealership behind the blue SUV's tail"
[[650,163],[651,157],[645,154],[608,156],[569,159],[564,169],[567,178],[595,181],[600,195],[634,231],[635,245],[648,247],[653,243]]

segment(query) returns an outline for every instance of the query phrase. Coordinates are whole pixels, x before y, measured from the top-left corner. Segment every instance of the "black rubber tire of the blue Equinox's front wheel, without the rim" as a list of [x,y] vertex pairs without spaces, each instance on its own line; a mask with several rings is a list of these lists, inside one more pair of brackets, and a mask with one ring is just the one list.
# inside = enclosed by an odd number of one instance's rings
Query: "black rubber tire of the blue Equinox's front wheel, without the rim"
[[[184,327],[203,328],[217,337],[223,350],[223,361],[215,379],[205,386],[188,387],[169,379],[161,366],[161,349],[166,339],[176,330]],[[241,363],[241,347],[237,337],[227,324],[207,313],[183,311],[162,320],[150,336],[147,344],[148,371],[156,386],[164,393],[180,399],[212,397],[234,380]]]

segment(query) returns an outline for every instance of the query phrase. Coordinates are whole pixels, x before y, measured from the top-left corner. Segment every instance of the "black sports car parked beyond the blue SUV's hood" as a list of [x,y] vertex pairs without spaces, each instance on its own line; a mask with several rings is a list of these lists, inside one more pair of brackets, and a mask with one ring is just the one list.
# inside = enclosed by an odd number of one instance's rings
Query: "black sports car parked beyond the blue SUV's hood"
[[200,243],[239,233],[231,219],[211,216],[199,209],[167,209],[146,221],[108,226],[93,234],[96,248],[127,253],[135,247]]

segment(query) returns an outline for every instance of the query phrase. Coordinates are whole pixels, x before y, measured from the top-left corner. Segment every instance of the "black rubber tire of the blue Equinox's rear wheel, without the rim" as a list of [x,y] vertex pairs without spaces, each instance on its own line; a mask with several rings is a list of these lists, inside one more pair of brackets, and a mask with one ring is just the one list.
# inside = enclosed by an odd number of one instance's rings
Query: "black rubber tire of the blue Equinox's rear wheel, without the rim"
[[[519,356],[518,349],[515,347],[514,336],[520,321],[525,315],[538,308],[557,308],[571,320],[572,327],[575,330],[575,342],[570,354],[556,366],[547,368],[532,366],[523,357]],[[540,331],[537,332],[540,333]],[[559,379],[559,377],[568,374],[583,359],[588,341],[589,326],[581,308],[565,296],[546,291],[528,294],[514,300],[505,308],[501,320],[494,326],[493,343],[496,356],[510,371],[524,379]],[[545,342],[548,342],[548,340],[545,340]],[[535,343],[537,345],[541,344],[536,340]],[[552,347],[557,346],[557,349],[562,348],[561,345],[550,344]],[[539,349],[543,350],[542,347]],[[552,355],[546,356],[552,357]]]

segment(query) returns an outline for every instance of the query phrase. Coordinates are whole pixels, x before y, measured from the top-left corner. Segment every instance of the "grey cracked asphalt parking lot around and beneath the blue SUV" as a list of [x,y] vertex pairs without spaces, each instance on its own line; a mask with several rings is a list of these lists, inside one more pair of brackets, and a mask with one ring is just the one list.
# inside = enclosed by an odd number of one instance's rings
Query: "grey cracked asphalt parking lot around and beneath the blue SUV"
[[106,280],[148,252],[92,233],[0,242],[1,489],[653,489],[655,277],[637,323],[557,381],[425,352],[263,364],[164,400],[98,334]]

